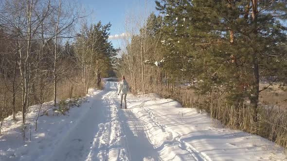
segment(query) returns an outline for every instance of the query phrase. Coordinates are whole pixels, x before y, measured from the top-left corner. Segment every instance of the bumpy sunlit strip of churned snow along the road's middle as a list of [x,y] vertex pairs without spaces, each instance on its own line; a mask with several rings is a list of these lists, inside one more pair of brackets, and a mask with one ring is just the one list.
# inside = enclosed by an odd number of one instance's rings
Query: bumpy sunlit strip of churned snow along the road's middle
[[99,130],[94,137],[90,154],[86,161],[128,161],[126,150],[123,147],[122,125],[115,103],[116,87],[114,82],[106,83],[108,93],[102,98],[102,107],[105,109],[106,121],[99,124]]

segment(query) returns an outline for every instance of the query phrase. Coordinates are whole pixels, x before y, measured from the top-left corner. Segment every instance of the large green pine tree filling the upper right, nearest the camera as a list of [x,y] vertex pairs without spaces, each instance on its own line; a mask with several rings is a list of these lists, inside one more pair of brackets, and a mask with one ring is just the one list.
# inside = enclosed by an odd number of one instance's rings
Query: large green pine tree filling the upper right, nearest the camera
[[[175,50],[172,62],[190,57],[190,75],[201,93],[227,91],[233,105],[248,97],[256,121],[259,81],[286,82],[287,2],[282,0],[161,0],[163,32]],[[184,49],[182,49],[184,48]],[[180,55],[183,53],[183,55]],[[177,66],[179,69],[180,66]],[[272,83],[271,81],[270,83]]]

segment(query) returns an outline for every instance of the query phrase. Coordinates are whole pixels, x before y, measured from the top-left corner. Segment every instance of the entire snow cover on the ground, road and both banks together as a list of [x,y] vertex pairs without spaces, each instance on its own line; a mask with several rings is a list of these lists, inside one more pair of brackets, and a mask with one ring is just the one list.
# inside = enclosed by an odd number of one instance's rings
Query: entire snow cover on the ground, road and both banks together
[[[23,141],[20,121],[5,121],[0,161],[283,161],[284,148],[256,135],[224,129],[206,113],[182,108],[157,95],[127,96],[119,108],[118,82],[90,90],[80,107],[66,115],[27,115]],[[43,109],[51,107],[52,102]],[[18,116],[20,117],[20,116]],[[28,137],[28,138],[29,138]]]

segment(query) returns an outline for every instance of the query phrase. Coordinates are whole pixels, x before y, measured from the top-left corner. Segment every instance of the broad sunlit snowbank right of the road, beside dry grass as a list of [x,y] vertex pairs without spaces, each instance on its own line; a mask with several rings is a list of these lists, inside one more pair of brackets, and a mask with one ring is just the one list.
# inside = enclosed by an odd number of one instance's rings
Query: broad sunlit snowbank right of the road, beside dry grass
[[[172,99],[131,98],[132,113],[164,161],[282,161],[285,149],[267,139],[222,129],[206,113],[181,108]],[[217,126],[219,125],[219,126]]]

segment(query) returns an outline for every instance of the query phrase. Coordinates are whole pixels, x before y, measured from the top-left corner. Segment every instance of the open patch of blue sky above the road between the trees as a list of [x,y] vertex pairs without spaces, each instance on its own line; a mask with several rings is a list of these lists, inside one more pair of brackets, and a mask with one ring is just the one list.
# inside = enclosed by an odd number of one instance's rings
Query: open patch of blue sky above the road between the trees
[[[111,22],[110,34],[112,36],[123,34],[125,32],[126,15],[128,13],[143,13],[145,3],[148,12],[156,12],[155,0],[78,0],[78,2],[91,13],[89,19],[95,20],[95,23],[99,20],[103,24]],[[111,40],[116,48],[121,45],[120,37],[114,37]]]

